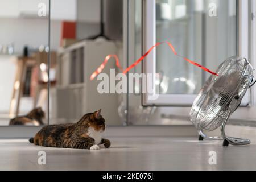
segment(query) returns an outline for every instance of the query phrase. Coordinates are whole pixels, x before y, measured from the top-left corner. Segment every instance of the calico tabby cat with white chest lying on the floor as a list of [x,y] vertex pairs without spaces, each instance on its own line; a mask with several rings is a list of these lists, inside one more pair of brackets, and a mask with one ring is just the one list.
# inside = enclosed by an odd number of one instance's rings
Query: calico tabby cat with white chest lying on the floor
[[29,141],[39,146],[99,150],[109,148],[110,141],[101,138],[105,119],[101,110],[85,114],[77,123],[44,126]]

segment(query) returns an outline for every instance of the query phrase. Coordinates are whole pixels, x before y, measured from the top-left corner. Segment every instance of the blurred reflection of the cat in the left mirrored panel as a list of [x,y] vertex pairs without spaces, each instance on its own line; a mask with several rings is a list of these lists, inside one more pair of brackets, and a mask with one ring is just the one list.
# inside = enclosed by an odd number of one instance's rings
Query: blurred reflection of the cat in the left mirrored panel
[[43,125],[44,111],[42,107],[36,107],[27,115],[18,116],[10,120],[9,125]]

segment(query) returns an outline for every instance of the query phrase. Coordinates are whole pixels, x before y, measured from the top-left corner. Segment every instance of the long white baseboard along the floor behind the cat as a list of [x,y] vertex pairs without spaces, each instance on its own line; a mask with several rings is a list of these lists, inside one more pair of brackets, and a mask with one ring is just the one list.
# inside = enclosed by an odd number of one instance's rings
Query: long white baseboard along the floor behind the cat
[[[30,138],[42,126],[1,126],[0,138]],[[221,135],[220,129],[205,132],[208,135]],[[227,125],[226,134],[232,137],[256,137],[256,127]],[[195,127],[191,126],[108,126],[108,137],[197,137]]]

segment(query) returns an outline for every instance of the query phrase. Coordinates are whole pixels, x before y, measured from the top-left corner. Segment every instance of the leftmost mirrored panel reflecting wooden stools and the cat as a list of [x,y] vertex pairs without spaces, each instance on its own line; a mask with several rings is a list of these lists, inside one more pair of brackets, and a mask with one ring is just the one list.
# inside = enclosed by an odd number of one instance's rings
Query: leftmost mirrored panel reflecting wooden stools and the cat
[[46,124],[48,0],[0,0],[0,125]]

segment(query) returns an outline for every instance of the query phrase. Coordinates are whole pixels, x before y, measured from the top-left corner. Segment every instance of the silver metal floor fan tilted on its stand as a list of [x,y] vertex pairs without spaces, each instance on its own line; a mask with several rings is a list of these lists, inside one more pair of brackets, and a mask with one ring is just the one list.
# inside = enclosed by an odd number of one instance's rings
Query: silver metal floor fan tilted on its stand
[[[230,115],[241,104],[248,88],[253,86],[253,67],[238,56],[229,57],[217,69],[201,88],[193,102],[191,122],[199,131],[199,140],[224,139],[223,146],[250,144],[250,140],[227,137],[225,126]],[[253,84],[252,84],[253,83]],[[221,126],[222,137],[208,137],[204,130],[213,131]]]

